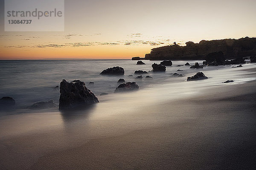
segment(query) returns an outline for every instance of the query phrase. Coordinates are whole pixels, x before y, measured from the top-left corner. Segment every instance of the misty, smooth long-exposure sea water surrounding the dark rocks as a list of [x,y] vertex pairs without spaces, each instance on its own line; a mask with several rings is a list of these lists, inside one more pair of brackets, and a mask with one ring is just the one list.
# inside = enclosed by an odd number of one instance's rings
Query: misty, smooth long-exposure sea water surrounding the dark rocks
[[[84,81],[87,88],[99,97],[100,102],[104,102],[120,95],[122,99],[124,95],[127,95],[113,94],[118,86],[118,79],[123,78],[125,82],[137,82],[140,90],[144,89],[143,93],[145,92],[144,94],[148,96],[140,99],[140,96],[135,95],[131,96],[131,100],[135,97],[135,101],[145,102],[145,100],[160,100],[157,99],[157,96],[154,97],[156,93],[153,92],[161,92],[163,94],[161,99],[166,99],[166,96],[178,97],[180,94],[192,94],[200,87],[222,85],[221,82],[227,79],[234,79],[236,81],[234,83],[255,79],[255,77],[248,78],[238,74],[245,68],[255,68],[255,64],[252,63],[244,64],[243,68],[231,68],[232,65],[222,65],[204,67],[200,70],[189,69],[190,66],[184,65],[186,62],[190,64],[199,62],[201,64],[202,61],[173,61],[172,66],[166,66],[166,72],[148,72],[149,74],[143,75],[143,79],[135,79],[138,75],[134,75],[134,71],[150,71],[152,69],[151,64],[160,63],[160,61],[143,60],[145,65],[136,65],[136,62],[128,59],[0,61],[0,97],[13,97],[16,101],[16,108],[26,108],[35,102],[49,100],[58,104],[59,88],[54,87],[59,86],[62,79],[68,81],[79,79]],[[125,74],[123,76],[99,75],[102,70],[113,66],[124,68]],[[183,71],[177,71],[178,69]],[[186,77],[192,76],[198,71],[203,71],[209,79],[200,82],[186,82]],[[173,77],[172,74],[174,73],[182,74],[184,77]],[[130,74],[133,77],[128,77]],[[145,79],[146,75],[150,75],[154,79]],[[89,85],[89,82],[94,82],[94,85]],[[99,96],[101,93],[111,95],[102,97]]]

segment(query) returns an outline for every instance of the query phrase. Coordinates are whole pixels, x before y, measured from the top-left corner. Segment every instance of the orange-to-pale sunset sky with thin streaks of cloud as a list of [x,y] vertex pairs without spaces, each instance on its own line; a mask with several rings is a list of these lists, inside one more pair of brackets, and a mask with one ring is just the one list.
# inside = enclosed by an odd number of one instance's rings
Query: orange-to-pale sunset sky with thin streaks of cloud
[[65,0],[64,31],[4,31],[0,59],[130,59],[177,42],[256,37],[256,0]]

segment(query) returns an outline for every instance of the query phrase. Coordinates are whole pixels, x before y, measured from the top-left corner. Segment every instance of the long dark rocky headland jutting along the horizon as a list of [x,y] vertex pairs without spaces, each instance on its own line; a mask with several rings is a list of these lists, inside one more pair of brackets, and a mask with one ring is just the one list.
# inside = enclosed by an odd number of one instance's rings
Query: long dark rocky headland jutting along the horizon
[[[145,54],[145,59],[150,60],[193,60],[205,59],[207,54],[222,51],[226,59],[256,55],[256,38],[201,40],[199,43],[186,42],[186,46],[168,45],[151,49],[150,54]],[[142,58],[140,58],[142,59]]]

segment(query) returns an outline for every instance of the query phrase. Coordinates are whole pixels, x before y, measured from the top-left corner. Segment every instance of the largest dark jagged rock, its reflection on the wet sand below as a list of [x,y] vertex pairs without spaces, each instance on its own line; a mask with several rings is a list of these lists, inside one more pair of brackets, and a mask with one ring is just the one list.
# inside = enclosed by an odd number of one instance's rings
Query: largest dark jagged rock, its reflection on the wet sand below
[[98,103],[99,100],[92,91],[86,88],[80,80],[68,82],[63,79],[60,86],[59,108],[74,108],[78,105]]

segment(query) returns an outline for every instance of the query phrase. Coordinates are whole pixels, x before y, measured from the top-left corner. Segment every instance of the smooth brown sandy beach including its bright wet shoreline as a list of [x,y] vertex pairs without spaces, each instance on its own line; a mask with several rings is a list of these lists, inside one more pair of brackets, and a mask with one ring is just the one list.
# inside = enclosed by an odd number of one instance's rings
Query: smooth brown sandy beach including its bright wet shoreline
[[2,116],[1,169],[254,169],[255,65],[235,69],[99,96],[84,110]]

